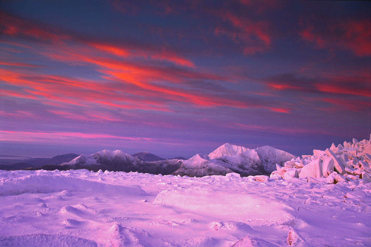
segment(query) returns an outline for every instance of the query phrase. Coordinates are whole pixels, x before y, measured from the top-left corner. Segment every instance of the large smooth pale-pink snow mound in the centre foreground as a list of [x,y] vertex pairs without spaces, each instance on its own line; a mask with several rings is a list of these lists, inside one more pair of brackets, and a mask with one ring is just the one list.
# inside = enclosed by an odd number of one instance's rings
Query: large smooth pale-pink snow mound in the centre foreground
[[154,204],[251,226],[280,225],[293,220],[296,215],[295,209],[285,203],[252,194],[226,193],[208,187],[164,190],[157,195]]

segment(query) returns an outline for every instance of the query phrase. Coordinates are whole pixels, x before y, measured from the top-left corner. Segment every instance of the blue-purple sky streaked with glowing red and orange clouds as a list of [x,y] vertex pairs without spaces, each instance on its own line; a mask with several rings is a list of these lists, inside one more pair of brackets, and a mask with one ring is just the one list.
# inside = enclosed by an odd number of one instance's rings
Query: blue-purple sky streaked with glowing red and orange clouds
[[0,154],[224,143],[311,154],[371,133],[370,1],[0,1]]

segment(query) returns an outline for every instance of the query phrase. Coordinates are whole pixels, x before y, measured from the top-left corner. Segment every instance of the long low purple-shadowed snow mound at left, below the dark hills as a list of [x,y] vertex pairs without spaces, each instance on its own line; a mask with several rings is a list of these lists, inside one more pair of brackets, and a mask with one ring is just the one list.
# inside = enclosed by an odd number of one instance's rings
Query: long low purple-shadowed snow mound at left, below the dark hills
[[0,196],[19,195],[23,193],[53,193],[64,190],[96,191],[107,194],[145,194],[145,191],[138,187],[103,184],[75,177],[57,175],[32,174],[0,181]]

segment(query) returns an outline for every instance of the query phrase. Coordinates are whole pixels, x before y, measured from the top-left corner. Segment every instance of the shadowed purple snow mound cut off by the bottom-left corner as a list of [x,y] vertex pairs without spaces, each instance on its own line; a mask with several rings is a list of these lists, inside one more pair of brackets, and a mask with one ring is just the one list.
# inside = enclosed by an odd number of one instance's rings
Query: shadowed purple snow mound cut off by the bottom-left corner
[[98,247],[95,241],[66,235],[32,234],[22,236],[0,236],[0,246],[9,247]]

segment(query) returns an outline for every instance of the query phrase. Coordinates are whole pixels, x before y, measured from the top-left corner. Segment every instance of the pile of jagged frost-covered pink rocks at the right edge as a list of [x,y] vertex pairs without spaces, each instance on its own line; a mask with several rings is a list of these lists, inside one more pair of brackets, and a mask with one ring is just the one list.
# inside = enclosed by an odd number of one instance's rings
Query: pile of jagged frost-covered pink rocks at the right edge
[[307,178],[307,181],[338,183],[364,180],[371,182],[371,134],[370,140],[344,141],[337,147],[332,143],[325,151],[313,150],[313,155],[292,158],[283,167],[276,164],[270,178]]

